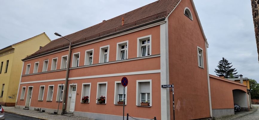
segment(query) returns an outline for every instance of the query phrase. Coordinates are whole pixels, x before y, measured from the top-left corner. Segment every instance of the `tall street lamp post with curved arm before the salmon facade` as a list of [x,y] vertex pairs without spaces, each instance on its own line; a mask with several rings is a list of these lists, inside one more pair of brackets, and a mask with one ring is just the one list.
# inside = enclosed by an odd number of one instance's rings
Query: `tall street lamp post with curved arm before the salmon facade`
[[[62,35],[59,33],[55,32],[54,33],[57,36],[60,36],[64,38]],[[65,38],[68,40],[67,38]],[[68,40],[69,41],[69,40]],[[69,49],[68,49],[68,58],[67,58],[67,70],[66,70],[66,78],[65,78],[65,86],[64,86],[64,95],[63,95],[63,106],[62,106],[62,113],[61,115],[65,114],[65,105],[66,105],[66,96],[67,96],[67,86],[68,86],[68,74],[69,74],[69,65],[70,65],[70,58],[71,58],[71,41],[69,41]],[[65,98],[65,99],[64,99]]]

